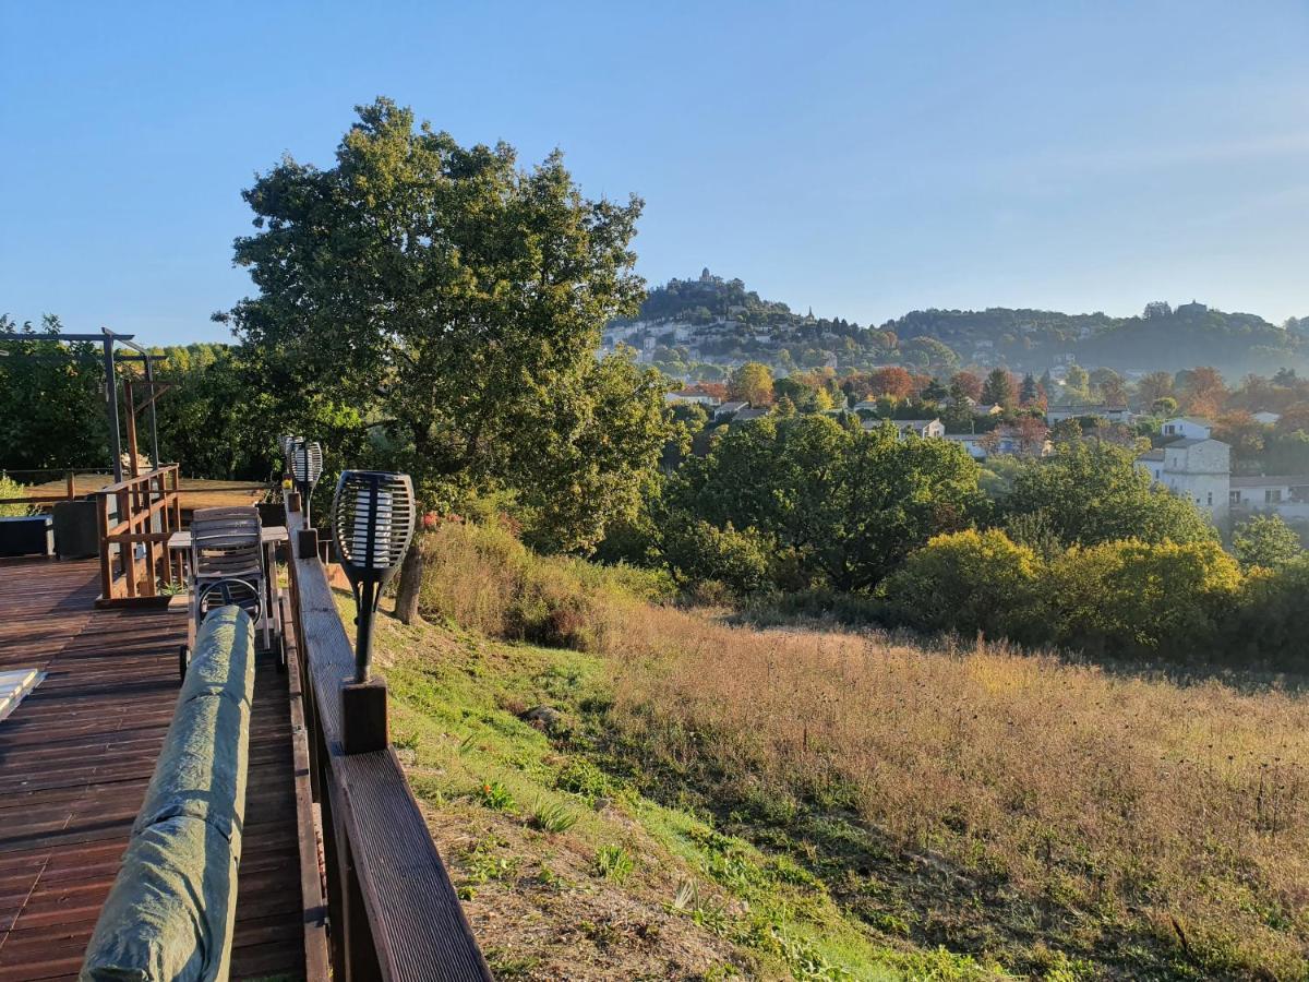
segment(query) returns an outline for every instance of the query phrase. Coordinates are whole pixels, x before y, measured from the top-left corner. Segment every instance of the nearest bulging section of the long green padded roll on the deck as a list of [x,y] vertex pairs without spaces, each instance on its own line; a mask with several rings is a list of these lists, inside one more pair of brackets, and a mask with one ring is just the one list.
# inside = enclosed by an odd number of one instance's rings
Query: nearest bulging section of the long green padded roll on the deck
[[196,818],[135,835],[86,948],[81,978],[190,982],[226,978],[237,860]]

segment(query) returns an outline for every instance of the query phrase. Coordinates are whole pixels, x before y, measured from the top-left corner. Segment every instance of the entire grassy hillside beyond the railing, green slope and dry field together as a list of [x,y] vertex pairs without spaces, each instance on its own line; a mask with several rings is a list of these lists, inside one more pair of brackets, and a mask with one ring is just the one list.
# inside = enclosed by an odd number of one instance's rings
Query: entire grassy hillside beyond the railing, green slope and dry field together
[[428,623],[378,638],[395,742],[501,978],[1309,968],[1300,695],[729,627],[493,528],[428,549]]

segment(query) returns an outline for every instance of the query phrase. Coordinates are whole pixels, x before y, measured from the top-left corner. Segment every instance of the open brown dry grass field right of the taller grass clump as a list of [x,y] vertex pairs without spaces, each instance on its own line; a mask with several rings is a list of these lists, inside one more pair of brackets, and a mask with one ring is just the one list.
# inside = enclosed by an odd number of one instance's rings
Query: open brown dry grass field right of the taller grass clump
[[649,606],[613,653],[647,766],[791,835],[848,814],[874,880],[910,856],[962,877],[910,935],[931,914],[956,944],[1035,932],[1143,977],[1309,972],[1309,699]]

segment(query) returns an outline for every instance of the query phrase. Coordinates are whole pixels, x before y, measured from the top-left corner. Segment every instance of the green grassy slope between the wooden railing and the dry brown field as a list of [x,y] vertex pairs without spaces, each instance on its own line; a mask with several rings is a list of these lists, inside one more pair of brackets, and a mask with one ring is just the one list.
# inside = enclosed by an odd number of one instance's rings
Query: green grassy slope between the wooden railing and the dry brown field
[[[804,843],[774,835],[761,851],[601,770],[614,759],[603,659],[389,618],[378,643],[395,745],[497,977],[1001,974],[897,939],[894,918],[864,923],[809,871]],[[551,732],[520,719],[535,704],[564,714]],[[1071,969],[1052,957],[1047,977]]]

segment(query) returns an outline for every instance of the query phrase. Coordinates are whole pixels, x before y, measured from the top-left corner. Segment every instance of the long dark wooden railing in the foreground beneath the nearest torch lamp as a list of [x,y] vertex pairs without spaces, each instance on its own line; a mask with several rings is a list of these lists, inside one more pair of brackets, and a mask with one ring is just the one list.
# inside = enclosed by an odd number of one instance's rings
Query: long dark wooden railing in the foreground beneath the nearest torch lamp
[[[361,728],[376,732],[376,719],[343,711],[344,694],[357,689],[355,653],[298,508],[288,507],[287,529],[297,647],[289,664],[301,673],[310,784],[322,813],[331,977],[491,979],[395,752],[384,736],[380,749],[347,753]],[[372,689],[384,700],[385,735],[385,685]]]

